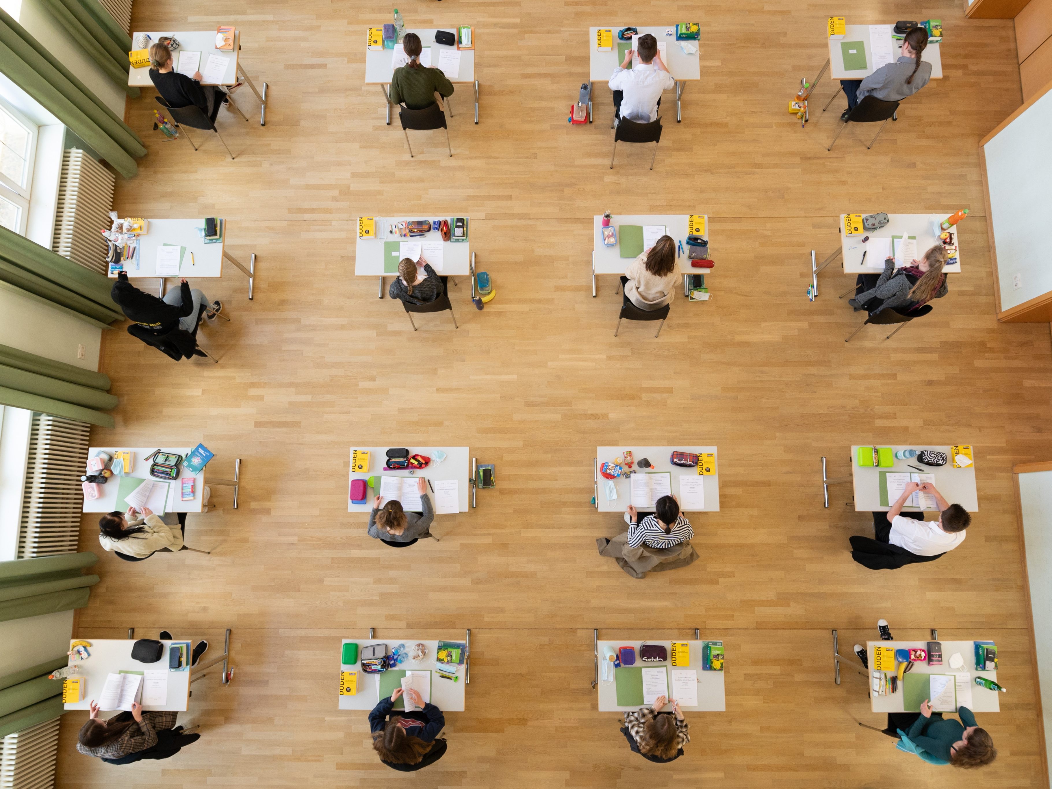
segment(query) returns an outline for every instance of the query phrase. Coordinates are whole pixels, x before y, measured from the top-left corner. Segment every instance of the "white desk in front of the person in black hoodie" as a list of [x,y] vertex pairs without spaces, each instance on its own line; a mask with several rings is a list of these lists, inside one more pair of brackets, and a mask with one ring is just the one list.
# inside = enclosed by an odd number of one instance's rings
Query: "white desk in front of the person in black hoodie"
[[[204,227],[201,219],[147,219],[147,232],[139,236],[139,251],[137,260],[124,261],[124,272],[128,279],[149,278],[157,276],[157,249],[163,244],[179,244],[186,247],[186,254],[179,266],[179,277],[186,279],[217,278],[223,276],[223,260],[230,261],[248,278],[248,298],[252,298],[252,285],[256,280],[256,252],[251,252],[248,268],[226,251],[227,234],[230,223],[223,220],[223,238],[215,244],[204,243],[204,236],[198,228]],[[116,280],[117,275],[109,275]],[[163,279],[163,278],[162,278]],[[163,295],[164,284],[161,290]]]

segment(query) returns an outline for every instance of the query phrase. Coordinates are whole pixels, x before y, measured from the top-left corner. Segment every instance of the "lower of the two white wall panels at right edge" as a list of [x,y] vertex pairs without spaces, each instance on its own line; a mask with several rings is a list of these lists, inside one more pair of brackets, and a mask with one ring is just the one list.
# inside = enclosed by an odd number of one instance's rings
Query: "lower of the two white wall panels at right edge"
[[1027,576],[1034,615],[1037,676],[1045,717],[1045,752],[1052,756],[1052,471],[1019,474]]

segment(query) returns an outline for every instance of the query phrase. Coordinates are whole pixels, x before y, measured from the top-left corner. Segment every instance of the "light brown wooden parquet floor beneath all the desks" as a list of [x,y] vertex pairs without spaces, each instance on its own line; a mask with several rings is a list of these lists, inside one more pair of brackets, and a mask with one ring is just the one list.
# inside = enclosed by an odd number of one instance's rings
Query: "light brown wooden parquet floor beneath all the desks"
[[[63,787],[926,787],[962,786],[955,770],[897,752],[856,726],[878,724],[864,677],[833,683],[831,628],[842,649],[875,638],[994,639],[999,714],[980,715],[1000,755],[986,787],[1044,785],[1020,580],[1011,467],[1048,460],[1052,342],[1047,324],[998,324],[977,142],[1021,102],[1011,20],[966,21],[958,0],[882,2],[852,23],[940,17],[945,79],[903,105],[867,150],[870,127],[833,151],[843,99],[823,116],[820,84],[802,129],[786,112],[800,78],[825,59],[827,3],[638,2],[630,18],[602,3],[423,0],[400,3],[409,26],[476,25],[481,123],[463,87],[449,135],[418,133],[410,160],[384,124],[378,88],[362,85],[361,41],[389,4],[322,0],[138,0],[135,29],[234,23],[242,61],[270,86],[267,125],[223,112],[199,153],[149,129],[153,96],[132,102],[147,140],[140,175],[118,187],[122,215],[224,216],[228,248],[259,256],[256,298],[229,269],[197,281],[229,324],[206,326],[220,358],[174,365],[108,332],[102,369],[121,398],[95,445],[193,445],[241,458],[239,508],[191,515],[187,542],[211,555],[127,565],[103,554],[102,582],[81,611],[82,638],[165,627],[222,644],[234,631],[234,682],[195,691],[186,720],[202,740],[178,757],[112,768],[74,750],[83,715],[63,717]],[[663,105],[649,148],[619,146],[609,169],[609,92],[598,122],[566,116],[588,72],[587,28],[699,19],[702,81],[684,121]],[[238,100],[252,117],[247,89]],[[199,139],[198,135],[195,139]],[[835,248],[845,210],[950,213],[964,271],[934,312],[892,340],[822,275],[811,303],[810,250]],[[613,337],[615,278],[591,298],[591,217],[704,211],[716,267],[713,298],[676,299],[652,325]],[[479,267],[498,291],[484,311],[461,280],[460,328],[400,306],[356,279],[359,215],[469,216]],[[870,528],[834,488],[822,506],[821,458],[847,472],[852,443],[971,443],[979,511],[967,542],[935,564],[874,573],[847,539]],[[630,579],[595,551],[623,529],[592,495],[596,445],[715,444],[723,510],[694,517],[701,561]],[[478,509],[443,517],[425,541],[394,552],[346,512],[352,445],[468,445],[494,463],[498,487]],[[211,470],[211,469],[210,469]],[[99,550],[83,521],[82,547]],[[467,710],[447,716],[449,752],[401,777],[369,749],[363,713],[337,710],[341,638],[457,635],[472,630]],[[591,628],[607,636],[722,638],[727,711],[690,715],[692,742],[668,766],[627,750],[618,715],[596,711]],[[973,777],[973,776],[967,776]]]

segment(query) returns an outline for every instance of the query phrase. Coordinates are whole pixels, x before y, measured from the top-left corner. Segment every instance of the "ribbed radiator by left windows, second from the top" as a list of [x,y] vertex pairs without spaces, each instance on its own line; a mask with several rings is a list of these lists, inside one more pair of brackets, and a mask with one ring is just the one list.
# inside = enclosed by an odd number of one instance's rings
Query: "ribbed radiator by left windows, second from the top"
[[106,272],[106,240],[102,230],[113,224],[117,179],[79,148],[62,155],[59,201],[55,208],[52,251],[99,274]]

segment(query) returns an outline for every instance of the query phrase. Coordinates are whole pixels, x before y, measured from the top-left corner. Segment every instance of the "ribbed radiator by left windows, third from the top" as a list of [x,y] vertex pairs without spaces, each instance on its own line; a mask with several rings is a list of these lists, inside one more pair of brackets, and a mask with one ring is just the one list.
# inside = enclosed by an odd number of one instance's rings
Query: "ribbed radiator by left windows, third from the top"
[[76,553],[90,425],[46,413],[33,414],[22,489],[18,558]]

